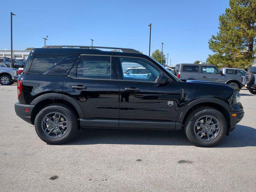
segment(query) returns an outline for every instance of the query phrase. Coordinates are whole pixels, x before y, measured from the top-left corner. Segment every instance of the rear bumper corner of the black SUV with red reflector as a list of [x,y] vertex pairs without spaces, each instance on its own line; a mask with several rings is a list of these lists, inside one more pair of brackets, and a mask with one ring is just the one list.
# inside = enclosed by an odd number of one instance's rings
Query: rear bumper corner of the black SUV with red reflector
[[[20,103],[14,104],[16,114],[22,118],[24,121],[33,124],[31,121],[31,112],[34,108],[34,105],[24,105]],[[29,111],[25,111],[25,109],[29,109]]]

